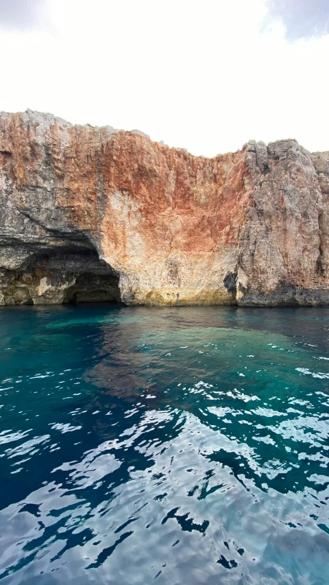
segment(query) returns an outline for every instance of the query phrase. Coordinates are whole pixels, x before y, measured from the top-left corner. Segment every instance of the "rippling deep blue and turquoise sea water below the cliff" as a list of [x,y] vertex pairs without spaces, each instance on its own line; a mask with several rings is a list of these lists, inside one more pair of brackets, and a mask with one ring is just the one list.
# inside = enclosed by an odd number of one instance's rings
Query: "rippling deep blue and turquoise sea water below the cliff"
[[0,580],[328,585],[329,310],[0,310]]

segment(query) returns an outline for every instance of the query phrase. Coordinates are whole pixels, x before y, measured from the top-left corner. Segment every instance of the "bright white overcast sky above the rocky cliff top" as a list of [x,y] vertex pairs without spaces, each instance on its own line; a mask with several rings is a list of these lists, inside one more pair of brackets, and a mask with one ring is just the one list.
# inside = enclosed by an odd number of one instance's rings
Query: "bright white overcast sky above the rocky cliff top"
[[329,150],[329,0],[0,0],[0,110]]

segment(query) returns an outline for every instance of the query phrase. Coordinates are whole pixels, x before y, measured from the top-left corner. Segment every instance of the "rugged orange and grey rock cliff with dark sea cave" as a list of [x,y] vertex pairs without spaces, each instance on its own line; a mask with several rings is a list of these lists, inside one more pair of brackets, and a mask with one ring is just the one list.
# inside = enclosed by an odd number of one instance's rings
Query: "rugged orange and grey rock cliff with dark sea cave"
[[0,115],[0,305],[328,305],[329,152]]

